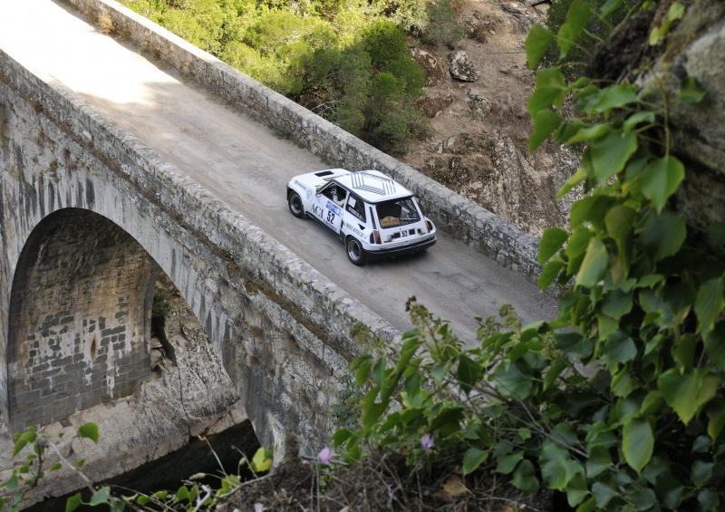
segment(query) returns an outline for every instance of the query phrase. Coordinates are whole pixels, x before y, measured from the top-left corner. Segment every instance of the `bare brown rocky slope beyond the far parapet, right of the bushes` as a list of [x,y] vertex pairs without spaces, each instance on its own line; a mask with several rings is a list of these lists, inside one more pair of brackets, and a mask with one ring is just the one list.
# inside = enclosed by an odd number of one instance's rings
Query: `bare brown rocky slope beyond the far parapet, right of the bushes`
[[574,198],[557,202],[556,191],[578,159],[561,147],[527,150],[535,74],[524,41],[542,16],[526,3],[469,0],[459,11],[466,37],[456,48],[411,49],[426,75],[420,107],[433,135],[403,159],[537,237],[565,225]]

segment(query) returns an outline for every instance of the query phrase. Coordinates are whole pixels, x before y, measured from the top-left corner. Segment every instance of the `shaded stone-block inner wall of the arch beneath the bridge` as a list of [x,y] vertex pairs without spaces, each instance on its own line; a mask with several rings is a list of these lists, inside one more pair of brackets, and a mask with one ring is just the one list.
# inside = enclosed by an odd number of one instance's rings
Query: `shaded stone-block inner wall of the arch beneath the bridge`
[[155,269],[131,235],[92,211],[63,208],[34,227],[10,295],[12,429],[128,396],[149,378]]

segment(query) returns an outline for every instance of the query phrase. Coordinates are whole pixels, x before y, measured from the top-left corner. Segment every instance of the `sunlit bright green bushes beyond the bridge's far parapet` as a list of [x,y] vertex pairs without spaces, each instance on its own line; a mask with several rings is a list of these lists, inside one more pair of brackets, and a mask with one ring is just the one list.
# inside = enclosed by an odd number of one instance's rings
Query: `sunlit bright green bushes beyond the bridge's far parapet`
[[428,129],[409,37],[452,46],[463,35],[449,0],[122,3],[393,155]]

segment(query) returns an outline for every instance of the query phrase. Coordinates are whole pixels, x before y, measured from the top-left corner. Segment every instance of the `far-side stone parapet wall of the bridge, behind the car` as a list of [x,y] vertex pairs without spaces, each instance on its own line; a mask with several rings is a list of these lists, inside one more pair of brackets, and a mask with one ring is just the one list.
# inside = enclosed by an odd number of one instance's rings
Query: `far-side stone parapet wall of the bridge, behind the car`
[[351,170],[378,169],[400,181],[416,194],[426,213],[443,231],[536,282],[540,274],[536,237],[507,224],[487,209],[372,148],[123,5],[113,0],[65,1],[93,19],[110,16],[118,34],[335,166]]

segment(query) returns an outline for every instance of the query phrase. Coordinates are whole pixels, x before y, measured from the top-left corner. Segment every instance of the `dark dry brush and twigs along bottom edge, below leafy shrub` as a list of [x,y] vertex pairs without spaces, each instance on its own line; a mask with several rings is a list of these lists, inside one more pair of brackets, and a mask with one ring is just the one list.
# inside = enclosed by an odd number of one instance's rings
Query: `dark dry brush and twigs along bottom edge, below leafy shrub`
[[563,510],[543,491],[524,497],[502,485],[494,471],[463,477],[455,466],[434,475],[410,474],[405,458],[378,451],[350,467],[321,474],[314,461],[293,457],[227,495],[219,510],[276,512],[553,512]]

